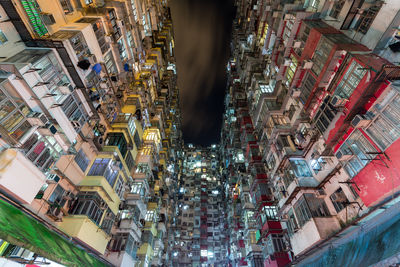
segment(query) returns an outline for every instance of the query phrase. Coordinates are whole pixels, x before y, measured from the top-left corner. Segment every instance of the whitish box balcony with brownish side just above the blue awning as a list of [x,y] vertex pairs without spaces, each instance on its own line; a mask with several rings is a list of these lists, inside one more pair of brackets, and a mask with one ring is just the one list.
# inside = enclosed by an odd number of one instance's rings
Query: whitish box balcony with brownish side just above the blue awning
[[311,218],[290,237],[293,253],[298,255],[316,242],[330,237],[340,228],[340,223],[334,216]]

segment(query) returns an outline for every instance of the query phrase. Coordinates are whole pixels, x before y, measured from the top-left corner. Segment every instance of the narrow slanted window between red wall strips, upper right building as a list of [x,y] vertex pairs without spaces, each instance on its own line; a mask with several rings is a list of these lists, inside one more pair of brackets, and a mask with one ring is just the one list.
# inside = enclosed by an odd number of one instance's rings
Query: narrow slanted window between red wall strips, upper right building
[[348,99],[354,92],[367,71],[356,60],[348,67],[335,90],[335,95]]

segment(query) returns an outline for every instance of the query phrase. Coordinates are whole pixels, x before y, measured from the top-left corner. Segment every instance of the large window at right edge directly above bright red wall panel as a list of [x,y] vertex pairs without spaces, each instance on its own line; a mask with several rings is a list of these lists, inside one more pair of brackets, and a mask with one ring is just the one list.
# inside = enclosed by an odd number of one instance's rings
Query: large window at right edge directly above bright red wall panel
[[400,137],[400,96],[396,95],[383,108],[376,108],[376,119],[367,133],[384,151]]

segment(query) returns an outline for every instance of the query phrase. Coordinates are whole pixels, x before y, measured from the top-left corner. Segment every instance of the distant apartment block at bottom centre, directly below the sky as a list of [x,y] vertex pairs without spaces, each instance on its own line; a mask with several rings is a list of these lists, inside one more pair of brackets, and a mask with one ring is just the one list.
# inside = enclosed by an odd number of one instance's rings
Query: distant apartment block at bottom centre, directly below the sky
[[187,144],[172,217],[170,266],[226,266],[226,205],[219,149]]

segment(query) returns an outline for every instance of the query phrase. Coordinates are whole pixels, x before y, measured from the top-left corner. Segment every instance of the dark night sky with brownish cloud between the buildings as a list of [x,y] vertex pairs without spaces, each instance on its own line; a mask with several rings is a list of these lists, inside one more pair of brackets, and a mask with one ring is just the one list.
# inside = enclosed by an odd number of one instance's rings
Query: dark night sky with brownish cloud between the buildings
[[218,143],[230,54],[233,0],[172,0],[185,143]]

